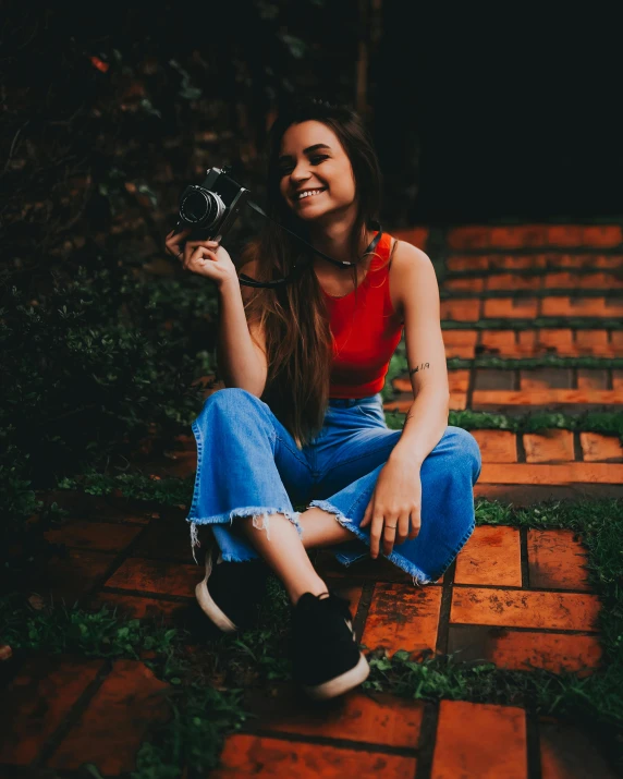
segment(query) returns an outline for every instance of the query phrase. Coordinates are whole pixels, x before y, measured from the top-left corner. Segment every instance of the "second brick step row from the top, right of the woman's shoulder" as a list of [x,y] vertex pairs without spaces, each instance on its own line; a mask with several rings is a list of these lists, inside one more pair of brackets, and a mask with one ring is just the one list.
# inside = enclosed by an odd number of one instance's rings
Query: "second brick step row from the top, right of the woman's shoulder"
[[623,268],[623,254],[484,254],[450,255],[450,273],[502,270],[614,270]]

